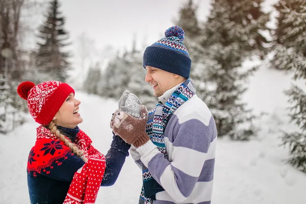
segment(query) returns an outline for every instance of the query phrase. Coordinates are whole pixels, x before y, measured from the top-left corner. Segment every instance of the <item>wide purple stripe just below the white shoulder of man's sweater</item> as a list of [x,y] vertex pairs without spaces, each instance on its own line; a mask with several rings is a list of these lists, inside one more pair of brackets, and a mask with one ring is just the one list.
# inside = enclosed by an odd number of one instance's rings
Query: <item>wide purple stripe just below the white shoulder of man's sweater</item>
[[173,146],[207,152],[210,143],[217,137],[215,120],[211,117],[208,126],[197,119],[190,119],[180,124],[177,116],[172,114],[164,137],[167,137]]

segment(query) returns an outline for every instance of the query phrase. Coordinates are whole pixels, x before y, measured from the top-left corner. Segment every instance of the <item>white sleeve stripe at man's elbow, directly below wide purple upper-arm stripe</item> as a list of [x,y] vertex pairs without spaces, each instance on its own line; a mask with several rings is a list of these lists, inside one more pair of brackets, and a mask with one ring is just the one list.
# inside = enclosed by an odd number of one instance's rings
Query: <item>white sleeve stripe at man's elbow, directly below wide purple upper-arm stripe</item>
[[204,153],[187,147],[176,147],[169,142],[167,146],[173,146],[173,152],[169,152],[169,157],[171,156],[173,159],[171,164],[188,175],[198,177],[204,162],[215,158],[216,144],[217,140],[214,139],[214,141],[210,143],[208,152]]

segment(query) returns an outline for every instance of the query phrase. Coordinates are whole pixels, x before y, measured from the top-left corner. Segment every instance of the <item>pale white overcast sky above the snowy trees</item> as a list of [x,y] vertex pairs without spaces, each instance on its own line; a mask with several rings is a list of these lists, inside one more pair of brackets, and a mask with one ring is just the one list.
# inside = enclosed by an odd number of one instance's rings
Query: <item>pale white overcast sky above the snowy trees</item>
[[[36,1],[43,2],[44,5],[29,11],[30,17],[25,20],[28,19],[33,32],[37,33],[38,26],[45,21],[40,13],[46,14],[49,0]],[[263,6],[267,8],[267,5],[276,1],[266,0]],[[69,33],[69,42],[72,42],[72,45],[67,47],[72,54],[72,67],[86,73],[85,70],[82,71],[80,59],[82,50],[79,37],[82,33],[91,41],[86,43],[86,49],[89,51],[83,51],[89,52],[83,66],[83,69],[87,69],[90,64],[111,57],[115,50],[130,49],[135,36],[140,50],[143,46],[161,39],[165,30],[175,25],[174,20],[177,19],[180,8],[187,2],[188,0],[60,0],[60,11],[66,19],[64,28]],[[194,3],[199,6],[198,18],[206,20],[211,0],[194,0]],[[33,32],[30,32],[27,40],[23,42],[24,46],[34,48],[37,38]]]

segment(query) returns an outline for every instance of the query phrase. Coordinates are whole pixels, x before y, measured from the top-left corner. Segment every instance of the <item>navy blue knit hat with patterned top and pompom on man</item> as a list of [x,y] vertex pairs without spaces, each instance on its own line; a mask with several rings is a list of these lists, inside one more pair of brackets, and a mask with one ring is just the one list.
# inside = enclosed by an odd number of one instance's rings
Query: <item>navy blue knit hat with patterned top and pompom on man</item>
[[189,78],[191,59],[183,44],[184,35],[179,26],[167,29],[163,39],[145,49],[142,66],[156,67]]

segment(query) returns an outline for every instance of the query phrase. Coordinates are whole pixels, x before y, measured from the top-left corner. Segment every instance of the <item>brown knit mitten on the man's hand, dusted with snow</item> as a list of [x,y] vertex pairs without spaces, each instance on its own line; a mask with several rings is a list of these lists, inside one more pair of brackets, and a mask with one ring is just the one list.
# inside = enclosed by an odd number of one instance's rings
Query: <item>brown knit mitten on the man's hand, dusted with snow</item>
[[126,143],[139,147],[150,138],[145,132],[148,111],[141,106],[140,118],[135,118],[123,111],[116,110],[110,122],[111,129],[119,135]]

